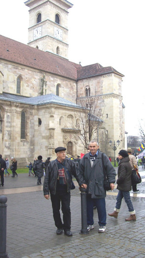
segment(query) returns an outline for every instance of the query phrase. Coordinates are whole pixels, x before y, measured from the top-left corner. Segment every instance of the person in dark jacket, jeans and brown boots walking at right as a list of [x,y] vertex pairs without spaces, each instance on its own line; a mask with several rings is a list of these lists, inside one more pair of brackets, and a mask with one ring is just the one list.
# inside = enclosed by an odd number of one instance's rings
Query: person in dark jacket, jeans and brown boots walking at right
[[132,173],[132,167],[130,164],[129,155],[126,150],[120,150],[118,153],[118,179],[116,181],[117,183],[117,189],[119,190],[117,198],[116,198],[116,207],[114,209],[113,213],[108,213],[109,216],[117,218],[118,212],[120,210],[121,201],[124,197],[124,200],[127,204],[130,217],[126,218],[125,221],[136,221],[136,214],[135,210],[133,208],[131,199],[130,199],[130,193],[131,191],[131,173]]

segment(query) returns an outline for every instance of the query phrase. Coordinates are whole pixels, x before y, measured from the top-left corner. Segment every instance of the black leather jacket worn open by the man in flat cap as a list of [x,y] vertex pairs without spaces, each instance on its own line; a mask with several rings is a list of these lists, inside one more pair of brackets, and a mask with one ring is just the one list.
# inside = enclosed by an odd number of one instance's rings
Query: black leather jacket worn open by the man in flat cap
[[[78,167],[72,160],[65,159],[63,164],[69,171],[71,177],[72,175],[76,177],[78,184],[80,186],[82,184],[85,184],[85,180],[83,176],[80,174]],[[70,192],[71,178],[70,176],[68,176],[68,173],[65,171],[65,169],[64,169],[64,172],[65,172],[65,177],[67,181],[67,192]],[[58,160],[56,159],[51,161],[47,167],[44,184],[43,184],[44,195],[49,195],[49,193],[53,195],[56,194],[57,179],[58,179]]]

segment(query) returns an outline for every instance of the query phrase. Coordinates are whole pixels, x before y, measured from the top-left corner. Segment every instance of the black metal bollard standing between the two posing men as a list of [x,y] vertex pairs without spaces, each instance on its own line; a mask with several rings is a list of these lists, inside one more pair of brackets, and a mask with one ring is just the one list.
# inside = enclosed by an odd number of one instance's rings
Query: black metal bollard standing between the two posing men
[[89,234],[87,230],[87,193],[86,189],[80,187],[81,191],[81,217],[82,217],[82,229],[80,234]]

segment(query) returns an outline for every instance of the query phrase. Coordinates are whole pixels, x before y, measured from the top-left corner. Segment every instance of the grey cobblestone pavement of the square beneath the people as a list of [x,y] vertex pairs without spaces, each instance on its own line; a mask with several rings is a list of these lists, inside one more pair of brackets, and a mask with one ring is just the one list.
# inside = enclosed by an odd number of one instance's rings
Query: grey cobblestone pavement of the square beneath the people
[[[145,170],[140,168],[140,174],[143,181],[138,189],[140,195],[145,196]],[[123,200],[118,218],[107,216],[104,233],[98,233],[97,210],[94,210],[95,228],[89,234],[81,235],[81,198],[76,187],[71,191],[73,236],[67,237],[56,235],[51,201],[45,200],[42,187],[34,188],[35,185],[36,178],[19,174],[17,178],[4,177],[4,189],[0,188],[0,195],[7,196],[6,251],[9,258],[145,258],[145,198],[139,194],[131,194],[137,221],[125,222],[129,212]],[[6,194],[12,188],[17,192],[18,187],[21,190],[29,187],[33,192]],[[116,194],[117,190],[108,192],[107,213],[114,210]]]

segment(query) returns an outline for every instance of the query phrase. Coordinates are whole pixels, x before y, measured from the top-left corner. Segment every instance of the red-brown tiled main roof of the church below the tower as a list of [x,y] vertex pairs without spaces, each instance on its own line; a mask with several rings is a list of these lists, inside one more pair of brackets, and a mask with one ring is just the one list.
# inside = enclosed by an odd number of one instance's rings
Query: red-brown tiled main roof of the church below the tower
[[95,63],[82,67],[67,59],[29,47],[2,35],[0,35],[0,58],[73,80],[113,72],[123,76],[111,66],[103,67]]

